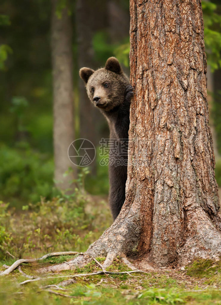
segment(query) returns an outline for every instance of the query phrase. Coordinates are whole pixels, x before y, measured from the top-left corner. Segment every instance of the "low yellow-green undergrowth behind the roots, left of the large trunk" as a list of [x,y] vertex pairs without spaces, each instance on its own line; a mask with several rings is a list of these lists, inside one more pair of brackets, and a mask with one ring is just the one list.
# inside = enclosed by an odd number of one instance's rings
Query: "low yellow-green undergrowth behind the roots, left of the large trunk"
[[[106,207],[102,207],[105,213],[100,216],[101,206],[96,202],[93,209],[88,204],[88,197],[77,188],[72,195],[23,206],[19,215],[0,202],[0,258],[6,258],[7,251],[16,258],[69,249],[85,251],[100,234],[96,230],[98,222],[104,230],[111,221]],[[57,262],[55,258],[47,260],[53,261]]]

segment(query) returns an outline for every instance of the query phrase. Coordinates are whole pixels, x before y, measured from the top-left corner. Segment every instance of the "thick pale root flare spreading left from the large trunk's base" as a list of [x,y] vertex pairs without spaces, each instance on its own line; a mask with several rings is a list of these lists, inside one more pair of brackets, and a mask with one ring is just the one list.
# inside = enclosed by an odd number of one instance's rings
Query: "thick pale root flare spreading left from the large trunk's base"
[[[139,210],[138,210],[139,211]],[[140,237],[140,217],[137,206],[124,206],[115,222],[100,238],[93,243],[85,253],[79,253],[74,259],[67,263],[49,266],[38,270],[39,273],[61,272],[63,270],[74,270],[89,264],[95,257],[106,256],[102,267],[106,270],[112,265],[117,256],[126,257],[126,254],[136,247]],[[135,270],[128,260],[126,265]]]

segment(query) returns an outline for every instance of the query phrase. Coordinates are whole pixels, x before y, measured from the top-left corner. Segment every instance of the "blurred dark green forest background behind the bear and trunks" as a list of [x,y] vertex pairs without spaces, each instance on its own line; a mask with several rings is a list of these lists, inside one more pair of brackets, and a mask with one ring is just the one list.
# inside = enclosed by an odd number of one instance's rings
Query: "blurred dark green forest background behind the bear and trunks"
[[[97,68],[108,57],[116,56],[129,74],[129,1],[102,0],[102,5],[100,0],[83,2],[88,24],[78,1],[71,1],[69,6],[76,138],[82,136],[79,96],[84,90],[79,68]],[[65,0],[60,4],[63,7]],[[210,123],[221,187],[221,4],[214,0],[202,6]],[[96,22],[90,25],[90,20]],[[59,194],[53,181],[51,2],[1,0],[0,37],[0,199],[20,209],[39,202],[41,196],[50,200]],[[82,56],[85,40],[90,40],[91,59]],[[108,133],[105,120],[97,115],[95,143]],[[78,182],[92,195],[107,195],[108,169],[99,166],[99,158],[95,164],[78,172]]]

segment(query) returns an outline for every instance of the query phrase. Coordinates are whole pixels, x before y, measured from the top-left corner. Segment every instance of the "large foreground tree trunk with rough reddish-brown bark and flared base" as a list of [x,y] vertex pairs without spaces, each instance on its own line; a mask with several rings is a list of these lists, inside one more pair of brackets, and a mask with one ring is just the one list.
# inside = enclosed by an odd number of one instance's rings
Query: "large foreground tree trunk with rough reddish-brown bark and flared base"
[[126,201],[113,225],[71,264],[106,255],[105,267],[135,247],[157,266],[218,257],[221,219],[200,0],[130,0],[130,16],[135,96]]

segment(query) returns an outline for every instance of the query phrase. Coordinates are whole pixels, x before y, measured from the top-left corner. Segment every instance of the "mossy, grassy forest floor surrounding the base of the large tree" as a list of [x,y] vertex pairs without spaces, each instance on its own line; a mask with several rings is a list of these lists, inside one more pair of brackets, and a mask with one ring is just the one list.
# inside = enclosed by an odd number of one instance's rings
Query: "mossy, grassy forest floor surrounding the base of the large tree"
[[[74,207],[73,200],[76,204]],[[5,270],[4,264],[10,266],[21,257],[37,258],[55,251],[85,251],[111,225],[111,215],[106,204],[105,198],[100,200],[99,197],[75,194],[74,198],[60,198],[50,202],[42,200],[36,209],[25,206],[23,212],[17,213],[8,211],[6,205],[1,203],[0,272]],[[134,265],[145,273],[76,276],[101,271],[93,261],[82,269],[39,277],[37,269],[68,263],[73,257],[51,257],[40,263],[23,264],[20,270],[0,276],[0,304],[221,305],[219,260],[197,259],[186,268],[155,270],[148,270],[136,262]],[[97,261],[102,264],[104,258],[97,258]],[[132,260],[131,262],[133,263]],[[109,272],[118,273],[129,270],[120,258],[107,268]],[[37,280],[23,283],[29,279],[27,275]]]

